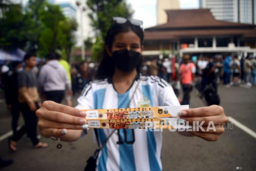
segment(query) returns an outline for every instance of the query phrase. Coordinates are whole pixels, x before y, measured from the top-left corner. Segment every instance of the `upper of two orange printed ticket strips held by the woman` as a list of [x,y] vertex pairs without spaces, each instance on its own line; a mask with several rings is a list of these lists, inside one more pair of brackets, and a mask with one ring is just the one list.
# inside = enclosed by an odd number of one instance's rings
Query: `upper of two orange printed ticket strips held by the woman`
[[189,105],[159,106],[159,107],[136,107],[118,109],[93,109],[84,110],[87,120],[112,120],[112,119],[140,119],[178,117],[180,110],[188,109]]

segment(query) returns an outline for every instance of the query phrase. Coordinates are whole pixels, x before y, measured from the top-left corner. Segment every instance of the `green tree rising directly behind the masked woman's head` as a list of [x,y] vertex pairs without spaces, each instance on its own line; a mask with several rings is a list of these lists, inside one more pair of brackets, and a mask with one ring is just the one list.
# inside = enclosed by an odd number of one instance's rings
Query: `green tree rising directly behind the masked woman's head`
[[91,10],[88,15],[97,36],[93,45],[93,58],[96,60],[102,55],[104,39],[112,24],[112,17],[131,18],[133,11],[125,0],[88,0],[87,6]]

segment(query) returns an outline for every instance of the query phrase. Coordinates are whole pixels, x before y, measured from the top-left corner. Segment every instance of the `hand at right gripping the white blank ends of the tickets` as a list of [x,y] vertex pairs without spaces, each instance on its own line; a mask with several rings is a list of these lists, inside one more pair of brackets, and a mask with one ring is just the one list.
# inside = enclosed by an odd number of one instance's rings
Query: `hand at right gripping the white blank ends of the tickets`
[[[224,113],[223,107],[218,105],[185,109],[180,111],[180,117],[188,121],[189,125],[193,125],[193,122],[195,124],[198,121],[204,130],[199,127],[199,130],[189,131],[189,133],[206,141],[217,141],[225,131],[224,124],[229,121]],[[213,129],[213,125],[215,129]],[[210,126],[210,129],[208,126]]]

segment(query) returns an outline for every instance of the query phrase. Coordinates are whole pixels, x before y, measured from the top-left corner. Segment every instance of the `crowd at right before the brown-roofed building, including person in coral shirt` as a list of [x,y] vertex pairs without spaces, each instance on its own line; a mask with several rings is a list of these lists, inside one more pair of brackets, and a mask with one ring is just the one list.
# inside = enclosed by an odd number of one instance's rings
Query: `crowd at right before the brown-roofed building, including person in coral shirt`
[[[181,60],[182,59],[182,60]],[[250,88],[256,85],[256,60],[253,54],[238,58],[237,54],[217,54],[164,58],[145,62],[144,75],[157,75],[169,82],[177,97],[183,90],[181,104],[189,104],[190,92],[195,86],[203,94],[208,86],[217,93],[218,85],[225,87],[242,85]]]

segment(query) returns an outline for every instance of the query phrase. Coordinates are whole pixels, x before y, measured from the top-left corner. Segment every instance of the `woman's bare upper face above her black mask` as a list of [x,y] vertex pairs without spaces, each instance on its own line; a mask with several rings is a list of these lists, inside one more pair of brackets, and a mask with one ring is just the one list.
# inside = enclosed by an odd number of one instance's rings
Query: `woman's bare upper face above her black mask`
[[106,47],[109,56],[112,56],[112,53],[114,51],[124,49],[142,53],[144,47],[141,45],[141,40],[138,35],[135,34],[133,31],[118,33],[115,36],[114,42],[112,44],[112,49],[109,50],[109,48]]

